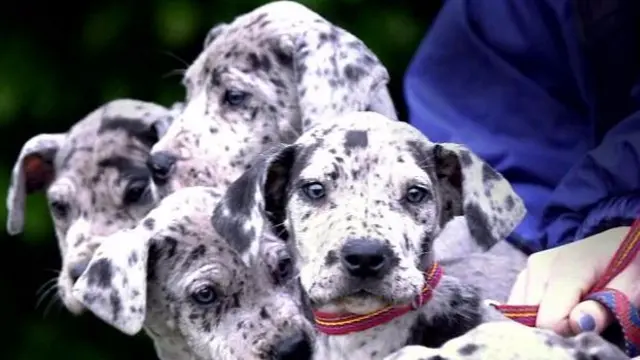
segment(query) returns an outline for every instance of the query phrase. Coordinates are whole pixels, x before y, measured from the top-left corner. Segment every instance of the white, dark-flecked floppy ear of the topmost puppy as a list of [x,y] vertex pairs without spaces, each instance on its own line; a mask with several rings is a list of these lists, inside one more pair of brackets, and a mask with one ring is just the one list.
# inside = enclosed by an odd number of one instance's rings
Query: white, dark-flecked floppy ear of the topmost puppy
[[360,39],[329,22],[315,22],[298,38],[283,37],[291,54],[302,131],[324,117],[371,110],[397,119],[387,89],[389,73]]

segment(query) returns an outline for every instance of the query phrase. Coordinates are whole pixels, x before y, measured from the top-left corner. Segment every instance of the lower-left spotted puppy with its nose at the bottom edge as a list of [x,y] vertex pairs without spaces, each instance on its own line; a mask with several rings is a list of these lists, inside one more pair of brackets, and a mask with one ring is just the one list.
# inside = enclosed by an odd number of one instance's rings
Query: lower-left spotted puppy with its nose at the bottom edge
[[264,239],[243,261],[236,233],[213,226],[219,198],[172,193],[101,241],[73,294],[126,334],[144,326],[163,360],[310,359],[313,326],[284,243]]

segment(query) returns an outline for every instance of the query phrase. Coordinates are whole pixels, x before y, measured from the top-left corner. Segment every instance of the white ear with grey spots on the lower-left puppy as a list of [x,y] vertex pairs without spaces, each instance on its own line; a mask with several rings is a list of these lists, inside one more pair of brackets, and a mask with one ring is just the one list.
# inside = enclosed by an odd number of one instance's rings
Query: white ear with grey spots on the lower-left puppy
[[150,239],[137,229],[103,237],[73,286],[73,296],[88,310],[127,335],[144,325]]

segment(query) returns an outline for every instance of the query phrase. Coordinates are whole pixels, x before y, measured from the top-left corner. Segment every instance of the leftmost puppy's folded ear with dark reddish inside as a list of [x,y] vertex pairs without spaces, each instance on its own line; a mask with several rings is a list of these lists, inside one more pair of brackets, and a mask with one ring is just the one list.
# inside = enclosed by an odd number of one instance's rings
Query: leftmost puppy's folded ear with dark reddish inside
[[55,178],[53,162],[65,137],[66,134],[40,134],[22,145],[7,193],[7,232],[10,235],[22,232],[27,194],[46,189]]

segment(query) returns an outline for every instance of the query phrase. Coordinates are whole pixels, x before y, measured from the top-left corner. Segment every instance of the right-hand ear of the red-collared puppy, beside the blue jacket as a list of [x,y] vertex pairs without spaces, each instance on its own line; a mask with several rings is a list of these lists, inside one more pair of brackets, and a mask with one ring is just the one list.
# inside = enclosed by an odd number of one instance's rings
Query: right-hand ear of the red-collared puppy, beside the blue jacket
[[435,144],[431,156],[443,190],[443,223],[464,215],[471,237],[488,250],[522,221],[526,213],[522,199],[501,174],[471,150],[459,144]]

